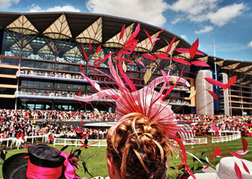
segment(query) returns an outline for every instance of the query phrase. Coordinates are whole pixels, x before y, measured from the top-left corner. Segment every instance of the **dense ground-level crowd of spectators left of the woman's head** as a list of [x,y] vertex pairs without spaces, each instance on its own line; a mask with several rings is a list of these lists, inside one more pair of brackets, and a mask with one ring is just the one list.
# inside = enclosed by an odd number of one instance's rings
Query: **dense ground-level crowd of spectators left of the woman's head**
[[[81,138],[89,133],[89,138],[106,136],[106,129],[85,128],[83,122],[114,121],[115,114],[109,112],[45,111],[45,110],[5,110],[0,109],[0,138],[18,136],[53,135]],[[80,125],[67,122],[80,122]]]

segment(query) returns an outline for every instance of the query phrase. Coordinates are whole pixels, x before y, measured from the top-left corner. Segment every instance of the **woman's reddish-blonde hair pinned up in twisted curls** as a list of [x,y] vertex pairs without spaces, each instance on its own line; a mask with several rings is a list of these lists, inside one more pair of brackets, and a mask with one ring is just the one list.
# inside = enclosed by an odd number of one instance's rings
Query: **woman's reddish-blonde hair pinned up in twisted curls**
[[172,153],[162,126],[141,113],[130,113],[107,138],[107,156],[113,158],[122,179],[165,177],[167,154]]

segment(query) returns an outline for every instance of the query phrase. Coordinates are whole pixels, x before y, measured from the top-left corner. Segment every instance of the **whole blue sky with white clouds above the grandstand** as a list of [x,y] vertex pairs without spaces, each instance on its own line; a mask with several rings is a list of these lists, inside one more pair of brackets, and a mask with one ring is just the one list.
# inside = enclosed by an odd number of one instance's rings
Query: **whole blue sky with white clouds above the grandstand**
[[[0,11],[73,11],[135,19],[167,28],[199,50],[252,61],[251,0],[0,0]],[[215,54],[213,49],[215,44]]]

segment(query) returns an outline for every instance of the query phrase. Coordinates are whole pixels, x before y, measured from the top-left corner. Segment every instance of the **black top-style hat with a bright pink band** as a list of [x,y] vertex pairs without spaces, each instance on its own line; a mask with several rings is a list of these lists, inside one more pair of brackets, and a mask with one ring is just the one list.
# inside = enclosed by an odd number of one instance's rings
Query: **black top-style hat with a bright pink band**
[[61,151],[38,144],[28,148],[27,153],[9,157],[3,164],[4,179],[65,179],[64,161]]

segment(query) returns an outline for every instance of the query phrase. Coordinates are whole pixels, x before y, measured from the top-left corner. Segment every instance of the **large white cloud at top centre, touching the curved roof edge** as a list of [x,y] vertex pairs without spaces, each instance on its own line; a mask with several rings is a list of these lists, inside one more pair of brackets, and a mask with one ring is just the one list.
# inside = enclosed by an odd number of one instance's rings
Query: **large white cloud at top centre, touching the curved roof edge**
[[164,0],[88,0],[90,12],[110,14],[162,26],[166,22],[163,12],[168,4]]

